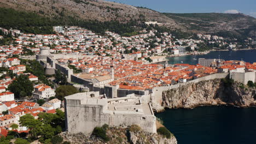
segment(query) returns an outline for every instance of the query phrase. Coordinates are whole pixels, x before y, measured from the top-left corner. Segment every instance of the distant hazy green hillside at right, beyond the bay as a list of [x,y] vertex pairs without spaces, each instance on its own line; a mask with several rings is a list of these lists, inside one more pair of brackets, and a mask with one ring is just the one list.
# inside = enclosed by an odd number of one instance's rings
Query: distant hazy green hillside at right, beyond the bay
[[244,14],[164,13],[191,32],[216,34],[223,37],[255,37],[256,19]]

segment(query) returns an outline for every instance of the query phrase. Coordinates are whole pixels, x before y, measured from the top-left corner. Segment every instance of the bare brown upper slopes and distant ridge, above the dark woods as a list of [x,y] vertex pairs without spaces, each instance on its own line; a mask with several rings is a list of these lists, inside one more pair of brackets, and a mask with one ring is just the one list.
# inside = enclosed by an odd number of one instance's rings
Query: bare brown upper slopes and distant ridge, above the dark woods
[[[253,37],[256,35],[256,19],[244,14],[190,13],[173,14],[133,7],[102,0],[0,0],[0,8],[29,11],[67,25],[74,20],[132,23],[131,28],[145,28],[146,21],[158,21],[167,31],[210,33],[224,37]],[[73,20],[69,20],[69,19]],[[117,24],[118,25],[118,24]],[[125,26],[123,26],[125,27]],[[190,35],[191,35],[190,34]]]

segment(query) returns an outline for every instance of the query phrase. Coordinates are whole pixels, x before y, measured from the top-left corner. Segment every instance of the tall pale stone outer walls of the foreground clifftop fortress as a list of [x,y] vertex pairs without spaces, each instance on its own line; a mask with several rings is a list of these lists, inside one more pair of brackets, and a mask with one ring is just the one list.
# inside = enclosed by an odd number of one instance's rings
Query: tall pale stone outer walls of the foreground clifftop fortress
[[[75,96],[74,99],[68,98]],[[83,93],[77,93],[65,98],[66,128],[68,133],[90,134],[95,127],[108,124],[110,127],[128,127],[138,124],[150,133],[156,133],[156,118],[151,115],[136,112],[125,113],[107,110],[107,99],[86,99]],[[119,113],[120,112],[120,113]]]

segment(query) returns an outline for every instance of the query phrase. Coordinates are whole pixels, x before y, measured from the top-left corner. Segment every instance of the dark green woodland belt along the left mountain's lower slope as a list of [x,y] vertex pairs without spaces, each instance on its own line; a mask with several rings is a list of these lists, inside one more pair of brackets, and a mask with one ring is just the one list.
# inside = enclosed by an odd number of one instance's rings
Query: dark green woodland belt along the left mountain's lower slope
[[129,35],[137,29],[135,21],[120,23],[118,21],[85,21],[74,19],[74,17],[44,17],[36,13],[19,11],[10,8],[0,8],[0,27],[16,28],[25,33],[34,34],[52,34],[53,26],[80,26],[91,29],[94,32],[101,33],[104,31],[113,31],[121,35]]

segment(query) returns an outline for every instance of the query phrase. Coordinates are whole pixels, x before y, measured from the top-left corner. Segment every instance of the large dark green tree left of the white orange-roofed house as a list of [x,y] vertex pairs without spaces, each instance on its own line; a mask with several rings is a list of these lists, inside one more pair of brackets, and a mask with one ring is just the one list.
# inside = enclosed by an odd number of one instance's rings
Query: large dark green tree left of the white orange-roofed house
[[19,99],[32,95],[34,87],[27,75],[20,75],[9,85],[8,89],[14,93],[15,98]]

